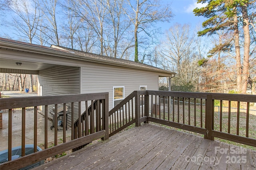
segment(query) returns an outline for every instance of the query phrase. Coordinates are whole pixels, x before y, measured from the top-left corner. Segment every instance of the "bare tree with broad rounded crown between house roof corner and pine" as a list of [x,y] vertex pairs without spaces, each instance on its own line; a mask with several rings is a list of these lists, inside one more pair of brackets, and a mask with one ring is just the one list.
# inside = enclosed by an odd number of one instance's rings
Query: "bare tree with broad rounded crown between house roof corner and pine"
[[[205,49],[201,39],[194,38],[190,25],[174,24],[166,31],[159,54],[165,60],[161,64],[168,66],[177,75],[172,78],[172,90],[199,91],[198,83],[204,80],[200,74],[201,68],[198,61],[204,57]],[[168,61],[166,62],[164,61]]]

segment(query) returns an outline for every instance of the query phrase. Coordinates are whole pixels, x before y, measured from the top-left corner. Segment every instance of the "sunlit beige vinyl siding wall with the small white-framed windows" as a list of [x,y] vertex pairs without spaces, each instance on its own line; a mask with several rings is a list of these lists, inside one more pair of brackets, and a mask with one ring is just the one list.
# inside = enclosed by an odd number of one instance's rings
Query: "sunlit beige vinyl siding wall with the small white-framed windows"
[[140,86],[158,90],[158,74],[141,70],[90,64],[82,69],[82,93],[109,92],[109,109],[113,108],[113,86],[124,86],[126,98]]

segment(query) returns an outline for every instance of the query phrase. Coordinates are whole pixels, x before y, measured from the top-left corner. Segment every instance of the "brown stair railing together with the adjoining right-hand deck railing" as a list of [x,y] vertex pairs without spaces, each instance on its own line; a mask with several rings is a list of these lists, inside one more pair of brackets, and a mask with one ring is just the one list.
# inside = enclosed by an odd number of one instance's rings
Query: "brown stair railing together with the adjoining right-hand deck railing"
[[110,111],[110,135],[132,123],[140,126],[152,121],[200,133],[205,139],[216,137],[256,147],[256,124],[251,120],[256,113],[250,109],[254,103],[256,95],[134,91]]

